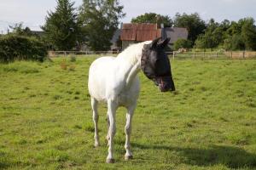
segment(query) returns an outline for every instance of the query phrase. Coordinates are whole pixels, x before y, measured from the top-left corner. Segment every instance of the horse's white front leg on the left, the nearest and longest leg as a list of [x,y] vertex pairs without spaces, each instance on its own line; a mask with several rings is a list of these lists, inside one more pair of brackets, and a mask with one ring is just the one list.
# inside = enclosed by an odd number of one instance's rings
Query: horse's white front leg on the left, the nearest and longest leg
[[113,137],[116,131],[115,125],[115,112],[117,110],[117,105],[109,100],[108,101],[108,120],[109,120],[109,127],[108,127],[108,157],[106,162],[113,163]]

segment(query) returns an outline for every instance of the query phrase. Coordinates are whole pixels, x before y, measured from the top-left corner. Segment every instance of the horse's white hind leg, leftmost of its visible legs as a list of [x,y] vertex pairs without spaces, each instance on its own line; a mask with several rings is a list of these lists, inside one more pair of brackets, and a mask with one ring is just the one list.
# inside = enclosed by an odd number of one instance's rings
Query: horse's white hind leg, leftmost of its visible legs
[[98,120],[99,120],[99,115],[98,115],[98,101],[94,98],[91,98],[91,108],[92,108],[92,118],[94,122],[94,129],[95,129],[95,134],[94,134],[94,139],[95,139],[95,147],[99,146],[100,141],[99,141],[99,132],[98,132]]

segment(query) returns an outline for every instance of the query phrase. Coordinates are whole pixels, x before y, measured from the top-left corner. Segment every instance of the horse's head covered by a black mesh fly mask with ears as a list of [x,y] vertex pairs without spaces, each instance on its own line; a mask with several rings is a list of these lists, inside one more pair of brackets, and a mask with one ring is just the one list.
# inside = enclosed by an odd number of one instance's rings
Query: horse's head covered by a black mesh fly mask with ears
[[170,60],[164,51],[169,41],[170,38],[166,38],[164,41],[157,38],[143,47],[141,60],[143,73],[159,86],[161,92],[175,91]]

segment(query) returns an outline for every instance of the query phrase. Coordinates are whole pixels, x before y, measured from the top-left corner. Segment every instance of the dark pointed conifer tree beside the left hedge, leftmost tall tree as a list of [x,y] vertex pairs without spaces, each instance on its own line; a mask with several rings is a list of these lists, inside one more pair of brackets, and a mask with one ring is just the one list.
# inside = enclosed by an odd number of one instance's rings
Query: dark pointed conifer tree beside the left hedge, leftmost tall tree
[[76,44],[79,27],[73,5],[70,0],[57,0],[55,12],[48,12],[41,27],[45,40],[56,49],[71,50]]

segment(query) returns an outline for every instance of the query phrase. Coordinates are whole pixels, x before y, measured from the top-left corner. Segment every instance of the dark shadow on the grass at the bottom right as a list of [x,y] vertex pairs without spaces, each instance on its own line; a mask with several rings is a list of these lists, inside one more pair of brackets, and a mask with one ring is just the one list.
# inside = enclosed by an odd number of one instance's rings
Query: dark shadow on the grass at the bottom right
[[176,151],[178,156],[186,158],[183,163],[189,165],[206,167],[223,164],[230,168],[256,167],[256,155],[238,147],[212,145],[207,149],[198,149],[136,143],[131,146],[142,150]]

